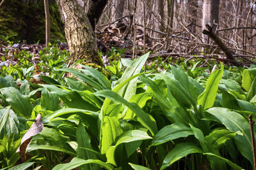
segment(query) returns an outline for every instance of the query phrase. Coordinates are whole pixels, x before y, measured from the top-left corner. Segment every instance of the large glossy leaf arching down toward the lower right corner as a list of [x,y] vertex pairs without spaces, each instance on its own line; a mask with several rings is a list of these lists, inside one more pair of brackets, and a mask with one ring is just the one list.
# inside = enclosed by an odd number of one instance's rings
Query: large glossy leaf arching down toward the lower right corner
[[241,154],[246,157],[246,159],[250,160],[251,164],[253,165],[253,153],[251,149],[248,149],[252,148],[250,125],[248,124],[248,121],[239,113],[230,111],[227,108],[211,108],[207,110],[207,112],[218,118],[229,131],[240,131],[243,133],[243,136],[236,135],[234,139]]

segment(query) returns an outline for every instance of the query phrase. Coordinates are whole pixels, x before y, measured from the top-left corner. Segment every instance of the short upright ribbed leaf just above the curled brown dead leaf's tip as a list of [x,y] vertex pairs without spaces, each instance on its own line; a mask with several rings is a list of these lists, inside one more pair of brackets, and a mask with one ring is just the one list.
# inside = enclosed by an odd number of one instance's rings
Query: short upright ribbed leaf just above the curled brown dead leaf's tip
[[60,109],[60,101],[56,93],[49,92],[45,87],[41,93],[40,104],[43,110],[56,111]]

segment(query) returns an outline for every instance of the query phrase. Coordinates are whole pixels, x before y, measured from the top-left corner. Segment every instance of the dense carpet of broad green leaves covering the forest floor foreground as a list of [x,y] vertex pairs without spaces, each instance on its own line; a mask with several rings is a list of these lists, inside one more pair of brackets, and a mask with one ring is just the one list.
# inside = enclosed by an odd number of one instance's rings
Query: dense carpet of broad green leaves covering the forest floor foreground
[[56,46],[41,52],[45,83],[29,81],[35,67],[25,60],[4,67],[0,166],[15,168],[20,139],[40,113],[44,129],[31,138],[20,168],[252,169],[254,71],[220,64],[209,73],[182,60],[145,73],[148,53],[132,61],[120,53],[109,53],[111,80],[88,66],[66,68],[67,52]]

